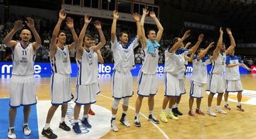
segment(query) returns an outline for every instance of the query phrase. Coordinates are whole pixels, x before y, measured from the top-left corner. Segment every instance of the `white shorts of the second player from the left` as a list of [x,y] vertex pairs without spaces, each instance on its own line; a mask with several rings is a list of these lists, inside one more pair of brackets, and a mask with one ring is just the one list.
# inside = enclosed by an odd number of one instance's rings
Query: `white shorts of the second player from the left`
[[62,105],[73,99],[70,75],[53,73],[50,80],[51,103],[53,105]]

